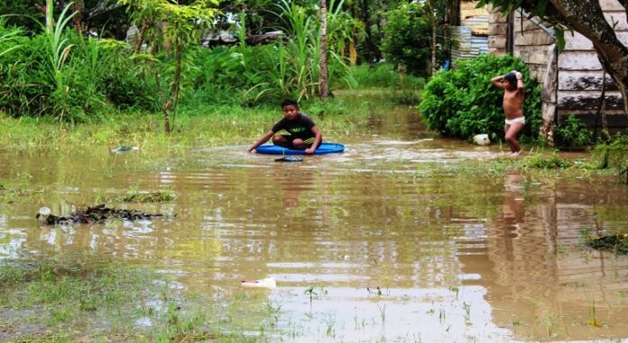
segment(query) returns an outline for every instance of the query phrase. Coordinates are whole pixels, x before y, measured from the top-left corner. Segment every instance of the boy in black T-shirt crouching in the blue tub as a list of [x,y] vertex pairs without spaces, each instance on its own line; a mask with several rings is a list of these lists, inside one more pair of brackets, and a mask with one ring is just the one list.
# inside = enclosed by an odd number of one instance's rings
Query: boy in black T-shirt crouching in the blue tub
[[[282,102],[283,118],[272,126],[259,140],[246,149],[247,152],[259,147],[272,137],[272,144],[288,149],[305,149],[306,154],[312,154],[319,148],[323,136],[309,115],[299,112],[299,104],[294,100]],[[288,131],[290,134],[275,135],[279,131]],[[274,137],[273,137],[274,136]]]

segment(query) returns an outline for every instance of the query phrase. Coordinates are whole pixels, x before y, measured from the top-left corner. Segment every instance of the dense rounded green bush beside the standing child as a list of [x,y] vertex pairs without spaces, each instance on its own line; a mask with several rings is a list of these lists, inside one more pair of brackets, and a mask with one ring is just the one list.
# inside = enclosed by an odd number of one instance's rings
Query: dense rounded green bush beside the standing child
[[473,60],[457,61],[451,70],[439,71],[422,94],[423,122],[430,130],[447,136],[466,140],[478,133],[487,133],[491,140],[500,140],[503,137],[503,90],[493,86],[490,79],[513,69],[522,72],[526,90],[523,104],[526,126],[522,135],[536,138],[541,123],[540,87],[531,80],[525,63],[510,55],[482,55]]

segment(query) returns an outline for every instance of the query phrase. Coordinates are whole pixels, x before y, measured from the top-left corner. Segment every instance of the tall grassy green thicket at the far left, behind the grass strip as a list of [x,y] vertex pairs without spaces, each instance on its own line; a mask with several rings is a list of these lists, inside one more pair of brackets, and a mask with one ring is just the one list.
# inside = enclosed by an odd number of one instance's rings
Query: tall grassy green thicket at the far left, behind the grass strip
[[71,17],[67,10],[56,20],[49,15],[35,34],[0,21],[0,37],[5,37],[0,39],[0,110],[85,122],[108,115],[112,102],[153,108],[146,95],[154,88],[128,59],[125,43],[64,29]]

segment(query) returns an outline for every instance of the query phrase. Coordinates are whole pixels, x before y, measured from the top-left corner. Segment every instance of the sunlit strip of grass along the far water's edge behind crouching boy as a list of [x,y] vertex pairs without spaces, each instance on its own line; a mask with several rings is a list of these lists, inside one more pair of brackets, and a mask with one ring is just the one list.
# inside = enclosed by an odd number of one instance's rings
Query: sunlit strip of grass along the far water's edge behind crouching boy
[[[190,147],[248,145],[282,118],[277,106],[251,109],[239,106],[188,104],[171,120],[173,132],[163,133],[162,116],[145,112],[115,113],[101,122],[60,124],[48,117],[15,119],[0,113],[0,146],[6,151],[79,151],[118,146],[138,147],[143,152],[180,151]],[[326,134],[349,133],[360,113],[351,112],[341,100],[310,103],[302,111],[313,116]]]

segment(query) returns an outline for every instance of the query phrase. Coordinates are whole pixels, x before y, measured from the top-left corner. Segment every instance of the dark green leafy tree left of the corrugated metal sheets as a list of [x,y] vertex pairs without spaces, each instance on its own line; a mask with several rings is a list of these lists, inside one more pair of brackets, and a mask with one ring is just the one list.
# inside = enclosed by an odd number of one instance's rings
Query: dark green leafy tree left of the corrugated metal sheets
[[387,59],[414,75],[429,75],[432,24],[429,6],[402,5],[387,13],[382,50]]

